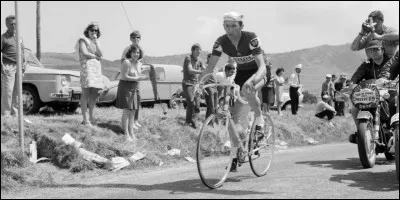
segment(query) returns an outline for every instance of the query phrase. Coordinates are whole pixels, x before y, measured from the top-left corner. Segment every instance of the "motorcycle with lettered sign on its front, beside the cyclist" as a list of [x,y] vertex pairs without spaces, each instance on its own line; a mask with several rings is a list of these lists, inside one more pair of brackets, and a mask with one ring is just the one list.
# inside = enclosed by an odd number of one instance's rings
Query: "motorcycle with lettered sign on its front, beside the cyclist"
[[356,118],[357,146],[364,168],[374,167],[379,153],[384,153],[389,161],[395,159],[395,134],[391,129],[389,100],[390,93],[396,90],[391,85],[393,82],[377,85],[375,79],[362,81],[350,95],[353,106],[359,110]]

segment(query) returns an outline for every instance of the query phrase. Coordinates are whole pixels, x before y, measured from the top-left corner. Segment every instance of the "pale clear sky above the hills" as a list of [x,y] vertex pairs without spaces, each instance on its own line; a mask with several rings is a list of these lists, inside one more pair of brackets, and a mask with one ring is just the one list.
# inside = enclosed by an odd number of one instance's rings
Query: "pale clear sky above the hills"
[[[91,21],[100,24],[104,57],[116,60],[130,45],[134,30],[148,56],[190,53],[194,43],[211,51],[225,33],[222,16],[244,15],[244,31],[255,32],[267,53],[283,53],[319,45],[351,43],[373,10],[384,13],[384,24],[399,29],[399,2],[258,2],[258,1],[44,1],[41,2],[42,52],[72,53]],[[18,2],[20,33],[36,52],[36,2]],[[1,1],[1,33],[5,18],[15,14],[13,1]]]

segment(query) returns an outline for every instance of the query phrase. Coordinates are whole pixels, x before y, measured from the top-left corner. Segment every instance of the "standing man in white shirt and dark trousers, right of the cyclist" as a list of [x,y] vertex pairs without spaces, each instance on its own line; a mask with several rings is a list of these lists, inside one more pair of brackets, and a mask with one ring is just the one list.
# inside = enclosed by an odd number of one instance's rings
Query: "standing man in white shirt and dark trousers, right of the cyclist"
[[297,115],[297,111],[299,110],[299,96],[302,92],[302,85],[300,82],[301,68],[301,64],[296,65],[295,72],[290,76],[289,79],[289,96],[293,115]]

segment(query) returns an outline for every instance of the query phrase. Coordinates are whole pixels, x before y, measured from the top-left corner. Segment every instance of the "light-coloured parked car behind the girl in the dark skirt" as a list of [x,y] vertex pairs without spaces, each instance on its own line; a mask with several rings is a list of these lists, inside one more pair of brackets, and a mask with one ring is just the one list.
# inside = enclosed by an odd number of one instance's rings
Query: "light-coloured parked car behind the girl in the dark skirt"
[[[143,64],[142,74],[155,73],[154,88],[151,80],[140,82],[140,96],[142,106],[154,106],[155,103],[167,103],[169,108],[176,108],[177,101],[182,100],[182,66],[164,64]],[[108,91],[99,97],[98,104],[115,105],[120,80],[120,72],[117,72],[114,79],[108,83]],[[158,98],[156,99],[156,94]]]

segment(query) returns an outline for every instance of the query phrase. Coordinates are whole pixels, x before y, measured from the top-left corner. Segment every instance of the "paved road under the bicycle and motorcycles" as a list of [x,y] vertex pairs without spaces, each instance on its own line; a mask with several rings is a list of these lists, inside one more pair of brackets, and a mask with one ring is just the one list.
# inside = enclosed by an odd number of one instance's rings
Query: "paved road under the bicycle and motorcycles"
[[380,155],[373,169],[363,169],[352,144],[285,150],[271,171],[256,178],[248,164],[231,173],[220,189],[205,188],[196,165],[124,172],[79,184],[25,191],[2,198],[399,198],[393,162]]

